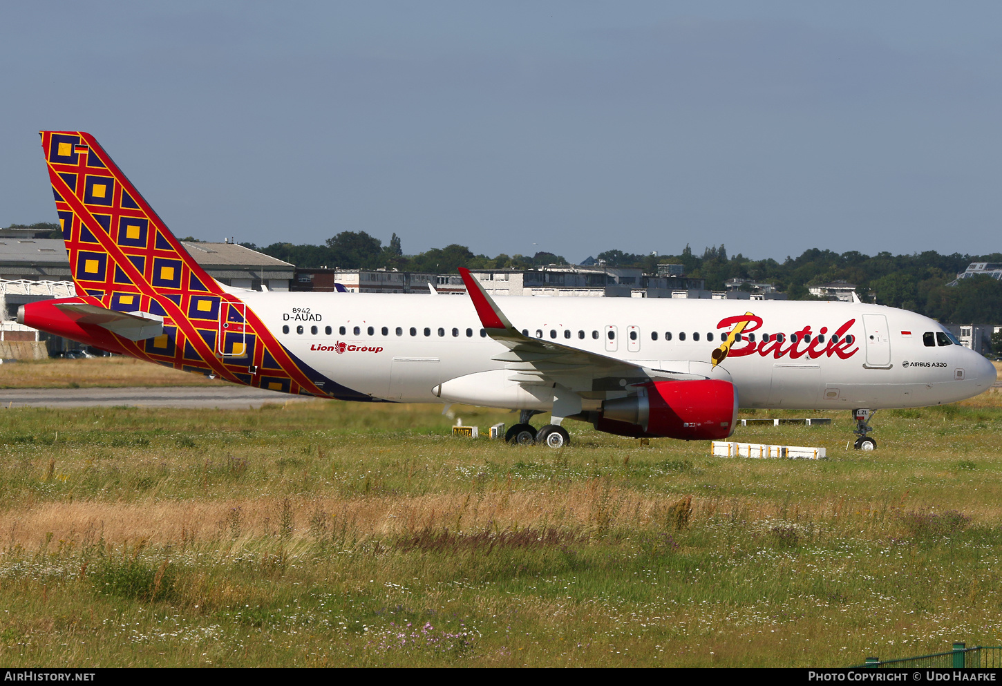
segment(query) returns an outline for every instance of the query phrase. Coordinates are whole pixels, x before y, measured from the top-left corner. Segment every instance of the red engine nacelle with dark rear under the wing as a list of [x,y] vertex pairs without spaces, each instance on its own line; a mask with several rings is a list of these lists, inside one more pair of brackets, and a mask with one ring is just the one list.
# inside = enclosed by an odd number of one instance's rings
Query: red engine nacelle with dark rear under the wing
[[598,431],[637,438],[725,439],[737,420],[737,390],[715,379],[652,382],[640,393],[602,403]]

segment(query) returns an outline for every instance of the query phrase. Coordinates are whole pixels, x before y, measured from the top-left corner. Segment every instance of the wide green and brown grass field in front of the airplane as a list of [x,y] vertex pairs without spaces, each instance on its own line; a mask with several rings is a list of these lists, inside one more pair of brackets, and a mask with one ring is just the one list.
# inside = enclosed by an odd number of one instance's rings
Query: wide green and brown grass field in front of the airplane
[[3,410],[0,662],[844,666],[999,645],[1000,401],[879,413],[869,454],[845,450],[848,412],[732,439],[817,462],[578,423],[568,449],[513,448],[452,438],[432,407]]

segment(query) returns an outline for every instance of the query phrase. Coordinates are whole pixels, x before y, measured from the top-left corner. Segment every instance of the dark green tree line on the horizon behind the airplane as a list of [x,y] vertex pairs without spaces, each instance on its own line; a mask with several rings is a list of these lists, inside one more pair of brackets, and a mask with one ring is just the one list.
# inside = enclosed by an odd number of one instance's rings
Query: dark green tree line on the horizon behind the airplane
[[[12,224],[10,228],[47,230],[60,237],[59,225],[39,222]],[[185,240],[195,240],[191,236]],[[344,269],[399,269],[431,273],[456,273],[461,266],[471,269],[528,269],[547,264],[567,264],[561,255],[536,252],[533,255],[501,253],[494,257],[475,254],[466,245],[453,243],[417,254],[405,254],[400,236],[394,233],[388,244],[365,231],[342,231],[323,245],[276,242],[259,246],[241,243],[254,250],[291,262],[300,267],[338,267]],[[599,252],[596,259],[608,266],[630,266],[656,273],[658,264],[682,264],[689,276],[705,279],[706,287],[723,289],[730,278],[747,278],[772,283],[790,299],[814,299],[813,285],[846,280],[857,285],[857,292],[867,301],[911,309],[940,321],[1002,323],[1002,281],[983,276],[962,279],[957,285],[947,283],[975,261],[1002,262],[1002,253],[970,255],[935,250],[893,255],[878,252],[867,255],[858,250],[835,252],[811,248],[800,256],[750,259],[740,252],[727,254],[724,245],[712,245],[696,254],[689,245],[678,254],[636,254],[611,249]]]

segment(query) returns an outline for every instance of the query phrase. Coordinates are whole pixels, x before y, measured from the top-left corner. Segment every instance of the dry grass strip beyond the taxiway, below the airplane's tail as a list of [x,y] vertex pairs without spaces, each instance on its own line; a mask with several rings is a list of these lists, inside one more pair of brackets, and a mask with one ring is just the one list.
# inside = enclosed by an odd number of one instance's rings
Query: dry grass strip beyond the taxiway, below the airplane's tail
[[0,365],[0,389],[121,388],[221,384],[133,358],[38,360]]

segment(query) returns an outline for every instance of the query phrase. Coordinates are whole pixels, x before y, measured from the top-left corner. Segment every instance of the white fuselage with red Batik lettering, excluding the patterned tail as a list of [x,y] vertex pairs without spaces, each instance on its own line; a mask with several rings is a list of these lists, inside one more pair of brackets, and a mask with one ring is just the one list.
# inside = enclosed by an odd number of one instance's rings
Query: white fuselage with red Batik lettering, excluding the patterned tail
[[[459,399],[436,395],[450,380],[505,369],[492,358],[506,349],[482,335],[468,297],[256,291],[241,291],[240,297],[291,353],[374,399],[535,410],[552,405],[549,395],[539,393],[535,401],[514,404],[510,394],[490,384]],[[936,321],[881,305],[539,296],[496,301],[530,336],[541,334],[651,370],[731,381],[744,408],[940,405],[978,395],[996,378],[994,367],[970,350],[927,346],[927,332],[945,330]],[[745,312],[755,320],[713,368],[710,354],[734,325],[722,322]],[[837,331],[840,345],[833,351]],[[779,333],[782,342],[776,339]],[[753,335],[755,340],[748,340]],[[851,345],[846,336],[852,336]]]

